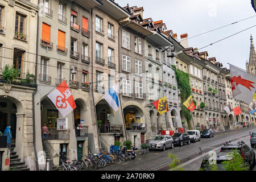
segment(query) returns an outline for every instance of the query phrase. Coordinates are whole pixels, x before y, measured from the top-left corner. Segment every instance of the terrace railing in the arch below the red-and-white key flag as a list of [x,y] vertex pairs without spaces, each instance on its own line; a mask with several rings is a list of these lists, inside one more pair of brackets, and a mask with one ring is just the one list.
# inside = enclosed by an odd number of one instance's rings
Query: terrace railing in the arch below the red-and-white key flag
[[43,140],[69,140],[69,129],[67,130],[57,130],[48,129],[48,136],[45,138],[42,134]]

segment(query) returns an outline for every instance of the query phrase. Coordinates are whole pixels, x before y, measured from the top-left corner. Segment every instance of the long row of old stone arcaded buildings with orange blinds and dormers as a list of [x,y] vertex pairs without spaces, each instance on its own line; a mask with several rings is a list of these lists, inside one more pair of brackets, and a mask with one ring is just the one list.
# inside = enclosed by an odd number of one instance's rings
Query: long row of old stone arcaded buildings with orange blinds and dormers
[[[140,148],[162,130],[188,129],[172,65],[189,74],[197,102],[193,129],[255,123],[249,106],[232,98],[229,70],[207,51],[188,47],[187,34],[177,38],[143,11],[113,0],[0,2],[0,130],[10,125],[13,134],[11,155],[0,146],[1,169],[44,170],[44,154],[57,166],[60,158],[80,159],[116,140]],[[15,78],[7,79],[6,65],[16,70]],[[63,116],[47,94],[63,80],[77,107],[59,130]],[[114,111],[102,96],[116,82],[121,92]],[[164,96],[169,111],[159,115],[152,102]],[[243,113],[226,114],[228,104]],[[88,127],[77,129],[79,124]]]

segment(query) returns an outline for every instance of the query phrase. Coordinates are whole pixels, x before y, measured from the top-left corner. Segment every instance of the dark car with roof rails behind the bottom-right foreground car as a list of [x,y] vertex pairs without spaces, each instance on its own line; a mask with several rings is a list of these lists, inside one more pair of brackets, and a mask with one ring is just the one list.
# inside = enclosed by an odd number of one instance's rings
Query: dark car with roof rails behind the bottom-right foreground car
[[255,166],[255,152],[245,144],[245,142],[225,142],[224,145],[221,147],[220,155],[226,155],[228,152],[232,152],[233,150],[237,150],[242,156],[242,158],[245,160],[248,166],[250,166],[250,169],[253,169]]

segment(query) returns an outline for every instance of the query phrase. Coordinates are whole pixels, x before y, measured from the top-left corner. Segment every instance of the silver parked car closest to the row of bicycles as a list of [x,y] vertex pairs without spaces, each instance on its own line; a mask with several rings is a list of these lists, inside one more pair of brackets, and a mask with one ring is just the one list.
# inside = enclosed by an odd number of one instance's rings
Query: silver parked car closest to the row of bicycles
[[170,135],[156,135],[149,142],[149,149],[160,149],[165,151],[166,148],[174,148],[174,139]]

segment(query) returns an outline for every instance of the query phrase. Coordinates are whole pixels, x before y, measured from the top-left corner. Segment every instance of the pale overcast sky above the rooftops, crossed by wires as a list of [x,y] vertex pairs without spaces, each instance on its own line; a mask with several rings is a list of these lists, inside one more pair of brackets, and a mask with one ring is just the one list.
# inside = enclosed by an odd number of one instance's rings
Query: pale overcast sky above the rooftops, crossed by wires
[[[122,7],[127,3],[129,6],[143,6],[143,18],[163,20],[168,30],[174,31],[178,37],[185,33],[191,37],[256,15],[251,0],[115,0],[115,2]],[[256,16],[189,39],[188,46],[202,48],[255,24]],[[217,61],[221,61],[228,69],[228,63],[246,69],[245,63],[249,60],[250,53],[250,34],[253,35],[256,46],[256,27],[253,27],[201,49],[200,52],[208,51],[209,57],[216,57]]]

